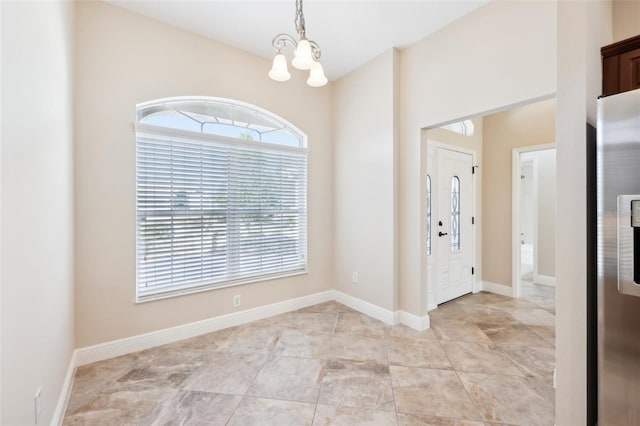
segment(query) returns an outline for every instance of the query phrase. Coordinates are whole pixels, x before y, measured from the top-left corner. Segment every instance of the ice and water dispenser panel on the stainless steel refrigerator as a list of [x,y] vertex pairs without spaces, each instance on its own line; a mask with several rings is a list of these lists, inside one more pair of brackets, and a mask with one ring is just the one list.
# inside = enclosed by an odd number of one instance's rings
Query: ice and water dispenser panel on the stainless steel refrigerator
[[618,196],[618,292],[640,297],[640,195]]

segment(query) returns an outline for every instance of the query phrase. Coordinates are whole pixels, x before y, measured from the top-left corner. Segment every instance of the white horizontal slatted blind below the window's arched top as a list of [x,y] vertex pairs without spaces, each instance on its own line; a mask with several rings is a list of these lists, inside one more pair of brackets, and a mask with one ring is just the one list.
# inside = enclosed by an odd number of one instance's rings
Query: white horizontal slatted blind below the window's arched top
[[138,133],[138,300],[306,270],[307,154]]

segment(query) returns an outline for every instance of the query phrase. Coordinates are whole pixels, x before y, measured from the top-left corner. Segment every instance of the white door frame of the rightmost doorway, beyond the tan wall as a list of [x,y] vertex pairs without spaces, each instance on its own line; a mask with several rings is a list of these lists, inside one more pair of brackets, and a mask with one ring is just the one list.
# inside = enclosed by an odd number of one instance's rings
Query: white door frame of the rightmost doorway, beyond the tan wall
[[[546,151],[555,147],[555,143],[550,143],[513,148],[511,152],[511,285],[513,297],[520,297],[522,293],[522,277],[520,276],[520,176],[522,175],[522,169],[520,167],[520,155],[527,152]],[[537,226],[534,229],[537,233]],[[537,236],[534,236],[534,239],[537,242]],[[534,246],[534,250],[535,248],[536,246]],[[533,256],[535,259],[536,254],[534,253]],[[535,272],[537,262],[534,260],[533,263]]]

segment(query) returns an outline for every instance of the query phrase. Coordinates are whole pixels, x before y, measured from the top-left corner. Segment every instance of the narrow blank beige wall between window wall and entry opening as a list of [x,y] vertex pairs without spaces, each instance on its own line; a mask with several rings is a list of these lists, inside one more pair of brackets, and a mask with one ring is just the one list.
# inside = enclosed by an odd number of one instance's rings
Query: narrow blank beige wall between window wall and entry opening
[[397,288],[397,57],[389,50],[338,80],[332,104],[334,285],[388,310]]

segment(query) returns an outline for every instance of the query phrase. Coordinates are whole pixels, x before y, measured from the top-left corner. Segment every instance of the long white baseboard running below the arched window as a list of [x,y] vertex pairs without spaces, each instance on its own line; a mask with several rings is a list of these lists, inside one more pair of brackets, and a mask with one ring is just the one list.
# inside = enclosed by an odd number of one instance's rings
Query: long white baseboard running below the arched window
[[328,290],[321,293],[298,297],[296,299],[285,300],[283,302],[272,303],[270,305],[260,306],[253,309],[221,315],[202,321],[179,325],[177,327],[166,328],[164,330],[152,331],[150,333],[100,343],[94,346],[79,348],[76,349],[75,354],[76,365],[90,364],[92,362],[102,361],[132,352],[138,352],[155,346],[166,345],[167,343],[200,336],[223,328],[268,318],[331,300],[335,300],[334,290]]

